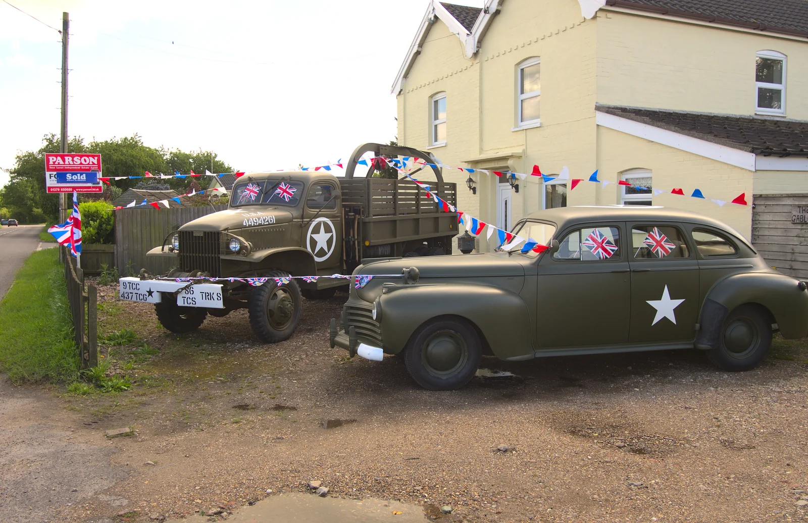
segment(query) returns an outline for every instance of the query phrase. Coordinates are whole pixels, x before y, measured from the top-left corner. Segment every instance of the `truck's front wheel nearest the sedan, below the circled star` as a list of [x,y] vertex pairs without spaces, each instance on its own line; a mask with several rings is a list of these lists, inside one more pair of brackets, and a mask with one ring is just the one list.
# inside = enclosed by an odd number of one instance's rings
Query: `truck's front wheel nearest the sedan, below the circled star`
[[[289,274],[273,270],[265,275],[269,278],[286,278]],[[287,340],[300,322],[302,301],[301,288],[294,279],[281,285],[269,279],[263,285],[253,287],[247,299],[247,308],[255,336],[264,343]]]

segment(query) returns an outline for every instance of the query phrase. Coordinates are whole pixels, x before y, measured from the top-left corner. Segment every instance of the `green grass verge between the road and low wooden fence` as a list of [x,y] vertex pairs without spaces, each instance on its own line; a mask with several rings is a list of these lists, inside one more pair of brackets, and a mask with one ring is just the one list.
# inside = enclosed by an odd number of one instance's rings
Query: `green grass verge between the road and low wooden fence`
[[57,249],[37,251],[0,302],[0,371],[14,383],[69,382],[78,363]]

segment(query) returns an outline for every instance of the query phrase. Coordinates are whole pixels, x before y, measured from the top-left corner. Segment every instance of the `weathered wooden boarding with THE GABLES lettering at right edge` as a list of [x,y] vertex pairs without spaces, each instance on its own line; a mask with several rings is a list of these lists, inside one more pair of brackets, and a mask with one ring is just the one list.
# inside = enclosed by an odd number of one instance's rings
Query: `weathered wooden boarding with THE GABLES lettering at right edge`
[[768,264],[808,280],[808,193],[755,195],[752,245]]

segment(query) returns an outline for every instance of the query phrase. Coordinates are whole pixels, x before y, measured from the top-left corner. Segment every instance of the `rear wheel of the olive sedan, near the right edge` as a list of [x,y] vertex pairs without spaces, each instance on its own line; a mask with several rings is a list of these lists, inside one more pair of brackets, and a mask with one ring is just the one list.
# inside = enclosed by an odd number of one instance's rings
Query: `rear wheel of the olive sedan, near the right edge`
[[760,306],[747,303],[726,316],[718,348],[707,357],[721,370],[750,370],[763,361],[772,345],[772,322]]

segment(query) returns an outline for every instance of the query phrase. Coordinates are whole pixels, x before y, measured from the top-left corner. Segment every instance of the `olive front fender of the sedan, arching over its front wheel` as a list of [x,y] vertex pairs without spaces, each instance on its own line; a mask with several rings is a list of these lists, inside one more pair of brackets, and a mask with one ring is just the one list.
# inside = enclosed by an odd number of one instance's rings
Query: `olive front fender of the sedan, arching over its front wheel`
[[379,297],[382,342],[398,354],[415,330],[436,316],[461,316],[482,335],[497,358],[532,358],[531,322],[522,297],[487,285],[437,284],[389,287]]

